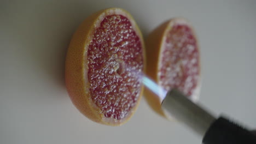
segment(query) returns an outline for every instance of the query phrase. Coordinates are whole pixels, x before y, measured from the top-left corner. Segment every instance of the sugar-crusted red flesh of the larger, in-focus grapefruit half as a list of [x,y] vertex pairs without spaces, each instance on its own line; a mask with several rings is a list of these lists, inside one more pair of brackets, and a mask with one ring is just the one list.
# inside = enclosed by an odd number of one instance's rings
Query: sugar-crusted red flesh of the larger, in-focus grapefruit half
[[141,40],[129,19],[110,15],[95,31],[88,49],[92,101],[105,117],[122,119],[136,105],[143,70]]

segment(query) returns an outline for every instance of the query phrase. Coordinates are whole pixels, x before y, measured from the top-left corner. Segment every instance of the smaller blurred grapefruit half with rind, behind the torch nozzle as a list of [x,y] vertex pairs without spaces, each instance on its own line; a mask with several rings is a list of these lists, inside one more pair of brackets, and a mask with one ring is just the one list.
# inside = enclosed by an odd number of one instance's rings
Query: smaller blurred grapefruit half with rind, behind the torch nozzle
[[[177,88],[192,100],[199,96],[200,53],[193,28],[182,18],[162,23],[146,40],[147,75],[165,91]],[[159,91],[159,94],[162,94]],[[162,95],[146,89],[149,105],[162,116]]]

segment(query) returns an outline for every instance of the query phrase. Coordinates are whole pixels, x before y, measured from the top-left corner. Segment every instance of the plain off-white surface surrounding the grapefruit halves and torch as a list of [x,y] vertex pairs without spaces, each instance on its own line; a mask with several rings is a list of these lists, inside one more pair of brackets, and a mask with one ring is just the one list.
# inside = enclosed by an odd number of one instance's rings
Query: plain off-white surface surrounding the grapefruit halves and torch
[[256,1],[1,1],[0,143],[201,143],[142,99],[121,127],[90,121],[64,83],[72,33],[91,13],[124,8],[144,35],[171,17],[194,25],[201,45],[200,102],[256,128]]

